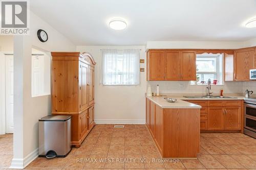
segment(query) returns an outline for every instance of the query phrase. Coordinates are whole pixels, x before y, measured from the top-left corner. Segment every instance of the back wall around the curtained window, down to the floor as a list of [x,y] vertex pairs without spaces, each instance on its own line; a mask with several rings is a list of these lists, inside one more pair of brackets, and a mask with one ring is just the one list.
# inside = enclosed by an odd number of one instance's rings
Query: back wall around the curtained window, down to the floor
[[103,86],[100,85],[100,58],[103,48],[141,49],[141,64],[146,70],[145,46],[77,46],[79,52],[89,52],[96,61],[95,66],[95,122],[96,123],[145,123],[146,72],[140,72],[140,85]]

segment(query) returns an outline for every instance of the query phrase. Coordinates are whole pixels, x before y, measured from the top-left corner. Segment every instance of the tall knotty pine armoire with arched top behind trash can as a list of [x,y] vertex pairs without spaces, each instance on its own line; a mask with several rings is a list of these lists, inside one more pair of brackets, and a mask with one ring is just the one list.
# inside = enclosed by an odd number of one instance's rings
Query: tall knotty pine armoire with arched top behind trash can
[[94,66],[90,53],[52,52],[52,114],[72,115],[72,145],[94,127]]

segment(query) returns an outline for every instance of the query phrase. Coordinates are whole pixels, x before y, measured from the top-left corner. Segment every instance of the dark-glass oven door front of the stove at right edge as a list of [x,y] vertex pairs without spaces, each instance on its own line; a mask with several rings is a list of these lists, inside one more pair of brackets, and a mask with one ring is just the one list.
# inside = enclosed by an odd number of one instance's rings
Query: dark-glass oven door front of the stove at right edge
[[244,128],[256,132],[256,105],[244,104]]

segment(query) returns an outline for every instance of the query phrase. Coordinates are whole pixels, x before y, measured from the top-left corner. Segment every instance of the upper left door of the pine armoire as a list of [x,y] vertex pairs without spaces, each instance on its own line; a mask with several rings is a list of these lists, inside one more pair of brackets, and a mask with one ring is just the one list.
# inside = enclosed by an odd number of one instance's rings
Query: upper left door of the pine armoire
[[83,110],[84,108],[86,108],[88,106],[88,65],[83,63],[83,62],[79,62],[79,79],[80,79],[80,83],[79,83],[79,90],[80,90],[80,110]]

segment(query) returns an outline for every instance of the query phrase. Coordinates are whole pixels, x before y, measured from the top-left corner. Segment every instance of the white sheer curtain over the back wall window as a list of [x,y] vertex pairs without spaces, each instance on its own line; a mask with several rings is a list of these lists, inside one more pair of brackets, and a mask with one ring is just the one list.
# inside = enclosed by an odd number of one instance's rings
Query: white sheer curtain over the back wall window
[[101,84],[140,84],[140,51],[137,49],[103,49]]

